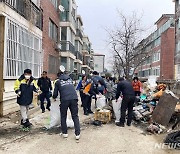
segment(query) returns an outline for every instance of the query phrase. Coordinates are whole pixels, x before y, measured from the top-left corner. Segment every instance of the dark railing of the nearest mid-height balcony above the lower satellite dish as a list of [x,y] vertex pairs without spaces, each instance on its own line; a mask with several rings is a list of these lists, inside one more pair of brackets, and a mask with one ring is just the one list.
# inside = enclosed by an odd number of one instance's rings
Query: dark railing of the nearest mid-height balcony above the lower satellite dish
[[76,55],[74,45],[69,41],[61,41],[61,52],[71,52],[72,54]]

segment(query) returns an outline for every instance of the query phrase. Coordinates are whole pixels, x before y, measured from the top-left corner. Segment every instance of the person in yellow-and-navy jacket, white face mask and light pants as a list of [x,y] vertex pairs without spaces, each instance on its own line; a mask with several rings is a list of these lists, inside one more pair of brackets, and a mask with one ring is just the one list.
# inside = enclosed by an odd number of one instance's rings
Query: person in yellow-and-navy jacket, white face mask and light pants
[[22,116],[21,125],[29,128],[32,125],[28,119],[29,105],[33,100],[33,92],[38,93],[37,82],[35,78],[32,77],[32,71],[30,69],[25,69],[24,74],[15,81],[14,90],[17,94],[17,103],[20,106]]

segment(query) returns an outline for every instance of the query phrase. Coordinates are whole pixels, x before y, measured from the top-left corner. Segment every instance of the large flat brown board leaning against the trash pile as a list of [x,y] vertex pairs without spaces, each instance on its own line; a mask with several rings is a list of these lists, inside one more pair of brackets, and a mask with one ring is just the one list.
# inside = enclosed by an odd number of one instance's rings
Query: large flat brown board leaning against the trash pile
[[177,98],[173,97],[171,94],[164,93],[153,111],[153,121],[163,126],[167,126],[171,116],[175,112],[177,102]]

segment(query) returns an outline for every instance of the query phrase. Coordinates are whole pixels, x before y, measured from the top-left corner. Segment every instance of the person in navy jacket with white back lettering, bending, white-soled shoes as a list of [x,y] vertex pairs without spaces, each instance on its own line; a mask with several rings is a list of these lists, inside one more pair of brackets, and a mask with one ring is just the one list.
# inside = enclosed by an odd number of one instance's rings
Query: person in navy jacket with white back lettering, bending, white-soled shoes
[[65,73],[65,67],[60,66],[60,76],[55,83],[53,99],[56,101],[58,93],[60,93],[60,113],[61,113],[61,129],[64,138],[68,137],[67,130],[67,110],[70,109],[71,116],[75,127],[75,138],[80,139],[80,124],[78,117],[78,96],[75,91],[73,81],[69,75]]

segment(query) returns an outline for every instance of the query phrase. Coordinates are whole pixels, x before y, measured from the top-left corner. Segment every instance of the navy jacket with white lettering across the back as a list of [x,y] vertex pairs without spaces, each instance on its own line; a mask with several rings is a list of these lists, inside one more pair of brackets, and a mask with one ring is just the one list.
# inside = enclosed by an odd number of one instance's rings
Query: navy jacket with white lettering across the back
[[60,93],[60,101],[78,100],[73,81],[70,76],[62,74],[55,83],[53,98],[56,99]]

